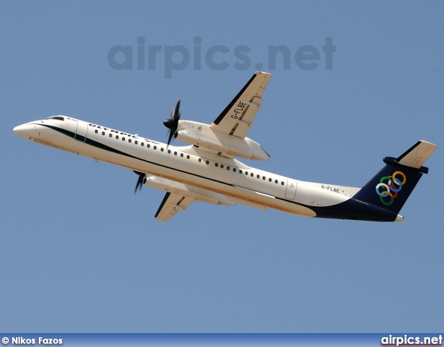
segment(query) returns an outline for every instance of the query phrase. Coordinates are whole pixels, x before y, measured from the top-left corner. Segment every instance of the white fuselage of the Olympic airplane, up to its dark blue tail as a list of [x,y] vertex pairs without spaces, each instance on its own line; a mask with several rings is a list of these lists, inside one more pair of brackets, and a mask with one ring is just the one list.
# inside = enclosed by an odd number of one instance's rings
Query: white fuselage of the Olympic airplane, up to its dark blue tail
[[[217,153],[200,151],[196,146],[167,146],[71,117],[54,118],[57,117],[32,121],[14,131],[40,144],[143,172],[145,184],[151,187],[165,191],[180,189],[183,184],[196,187],[192,194],[210,203],[241,203],[315,217],[311,207],[336,205],[359,191],[354,187],[294,180]],[[199,189],[204,193],[199,195]],[[208,191],[214,194],[205,193]]]

